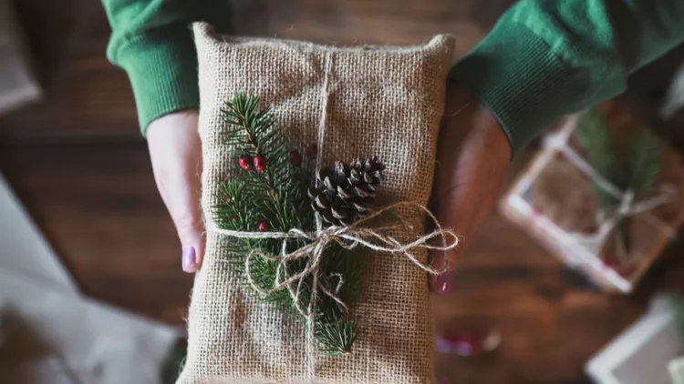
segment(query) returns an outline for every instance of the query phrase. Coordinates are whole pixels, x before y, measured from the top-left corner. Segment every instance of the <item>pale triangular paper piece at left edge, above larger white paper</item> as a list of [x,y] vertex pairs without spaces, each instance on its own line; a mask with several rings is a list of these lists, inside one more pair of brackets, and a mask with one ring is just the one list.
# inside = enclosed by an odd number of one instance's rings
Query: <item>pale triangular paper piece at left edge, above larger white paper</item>
[[55,252],[0,174],[0,270],[36,279],[78,295],[78,288]]

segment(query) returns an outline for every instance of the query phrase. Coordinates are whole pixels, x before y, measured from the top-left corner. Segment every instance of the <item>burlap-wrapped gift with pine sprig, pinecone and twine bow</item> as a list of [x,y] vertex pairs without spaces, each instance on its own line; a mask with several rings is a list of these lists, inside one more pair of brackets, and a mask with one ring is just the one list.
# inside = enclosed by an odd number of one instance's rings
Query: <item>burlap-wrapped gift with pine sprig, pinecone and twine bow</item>
[[451,38],[359,49],[194,31],[207,243],[180,382],[430,382],[425,271],[451,266],[428,250],[456,245],[426,208]]

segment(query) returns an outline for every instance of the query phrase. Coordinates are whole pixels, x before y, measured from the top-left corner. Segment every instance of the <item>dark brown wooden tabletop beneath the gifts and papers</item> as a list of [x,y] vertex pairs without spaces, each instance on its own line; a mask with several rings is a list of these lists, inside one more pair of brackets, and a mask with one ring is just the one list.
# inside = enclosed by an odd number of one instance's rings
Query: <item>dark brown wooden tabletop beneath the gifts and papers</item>
[[[181,324],[192,277],[181,272],[127,77],[104,56],[109,27],[101,5],[17,3],[47,99],[0,116],[0,170],[84,292]],[[510,2],[234,3],[244,35],[406,44],[448,32],[464,51]],[[454,383],[586,382],[586,359],[642,313],[649,295],[679,288],[682,247],[668,248],[635,295],[611,297],[494,214],[463,255],[451,295],[435,298],[435,316],[442,330],[498,329],[503,344],[479,358],[440,356],[440,375]]]

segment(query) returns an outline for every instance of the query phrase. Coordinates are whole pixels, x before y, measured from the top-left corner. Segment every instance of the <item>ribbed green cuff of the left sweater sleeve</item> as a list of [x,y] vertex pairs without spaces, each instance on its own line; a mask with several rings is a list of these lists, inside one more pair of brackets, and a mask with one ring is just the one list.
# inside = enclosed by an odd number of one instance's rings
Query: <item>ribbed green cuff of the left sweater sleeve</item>
[[143,136],[152,120],[199,105],[197,53],[188,25],[136,35],[117,57],[130,78]]

